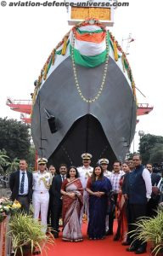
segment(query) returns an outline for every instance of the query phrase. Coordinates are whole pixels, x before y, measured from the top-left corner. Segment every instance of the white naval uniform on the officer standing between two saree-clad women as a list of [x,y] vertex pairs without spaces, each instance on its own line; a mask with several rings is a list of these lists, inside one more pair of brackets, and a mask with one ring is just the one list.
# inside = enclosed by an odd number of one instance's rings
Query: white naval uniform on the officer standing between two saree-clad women
[[86,187],[87,187],[88,177],[91,177],[93,174],[93,167],[89,166],[88,168],[86,168],[85,166],[80,166],[80,167],[77,167],[77,171],[79,172],[79,178],[81,180],[82,188],[84,190],[83,206],[82,206],[81,216],[80,216],[80,224],[82,224],[82,216],[83,216],[84,208],[87,214],[87,221],[89,220],[89,196],[87,194]]

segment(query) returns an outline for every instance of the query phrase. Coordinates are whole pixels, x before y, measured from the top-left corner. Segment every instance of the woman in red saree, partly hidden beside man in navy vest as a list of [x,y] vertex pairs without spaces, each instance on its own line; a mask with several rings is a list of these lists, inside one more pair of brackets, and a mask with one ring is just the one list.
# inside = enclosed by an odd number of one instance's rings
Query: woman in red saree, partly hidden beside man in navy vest
[[[124,178],[127,173],[130,172],[130,168],[128,166],[128,163],[124,163],[122,165],[122,170],[125,172],[125,175],[121,177],[120,180],[120,187],[122,188]],[[118,227],[116,230],[116,234],[114,237],[114,241],[118,241],[121,239],[122,245],[126,245],[126,237],[128,232],[128,224],[127,224],[127,215],[126,215],[126,207],[127,207],[127,201],[126,201],[126,195],[122,194],[122,191],[120,189],[118,198],[117,198],[117,219],[118,219]]]

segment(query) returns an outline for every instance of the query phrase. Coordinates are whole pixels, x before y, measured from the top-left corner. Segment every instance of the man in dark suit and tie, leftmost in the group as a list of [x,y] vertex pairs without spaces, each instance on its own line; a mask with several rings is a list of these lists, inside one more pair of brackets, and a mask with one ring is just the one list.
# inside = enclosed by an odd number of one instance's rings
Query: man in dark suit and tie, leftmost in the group
[[20,160],[20,170],[11,173],[9,177],[9,188],[12,201],[20,201],[21,210],[28,214],[32,196],[32,173],[26,169],[26,160]]

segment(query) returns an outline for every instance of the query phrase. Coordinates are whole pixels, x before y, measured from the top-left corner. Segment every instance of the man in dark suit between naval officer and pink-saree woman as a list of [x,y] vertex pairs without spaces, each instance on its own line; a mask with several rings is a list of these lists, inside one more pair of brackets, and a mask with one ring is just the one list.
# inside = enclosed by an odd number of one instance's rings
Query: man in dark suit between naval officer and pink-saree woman
[[59,237],[59,218],[62,212],[62,195],[60,194],[60,189],[62,182],[66,178],[67,166],[65,164],[60,165],[59,172],[59,175],[53,177],[53,182],[50,189],[50,193],[52,196],[51,224],[53,228],[52,233],[54,238]]

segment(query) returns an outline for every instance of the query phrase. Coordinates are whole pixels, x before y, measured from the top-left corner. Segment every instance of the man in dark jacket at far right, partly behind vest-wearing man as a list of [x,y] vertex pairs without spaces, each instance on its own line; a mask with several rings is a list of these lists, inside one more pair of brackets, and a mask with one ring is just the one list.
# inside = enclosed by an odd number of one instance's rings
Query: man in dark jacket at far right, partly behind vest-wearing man
[[157,185],[160,182],[160,175],[153,172],[152,164],[147,164],[146,168],[149,170],[149,173],[151,175],[151,182],[152,182],[152,195],[147,204],[147,216],[155,217],[157,215],[156,210],[157,210],[157,207],[159,204],[159,198],[160,198],[160,195],[157,195],[157,193],[155,193],[155,188],[157,188]]

